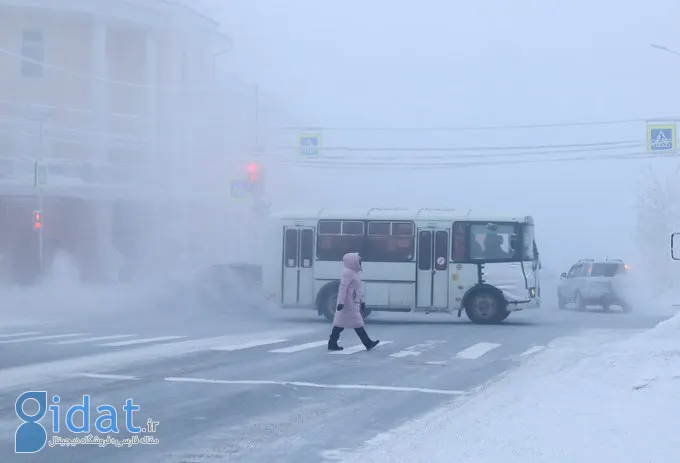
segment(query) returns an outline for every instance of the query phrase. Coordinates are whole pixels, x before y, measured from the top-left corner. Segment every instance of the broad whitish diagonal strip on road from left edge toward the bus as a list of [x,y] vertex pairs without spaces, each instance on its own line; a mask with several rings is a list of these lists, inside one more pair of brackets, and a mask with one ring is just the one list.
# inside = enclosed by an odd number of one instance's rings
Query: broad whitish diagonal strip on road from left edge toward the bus
[[274,336],[303,336],[313,333],[314,330],[298,328],[291,330],[272,330],[265,332],[248,333],[245,335],[227,335],[204,339],[193,339],[169,344],[156,344],[141,346],[137,349],[106,352],[101,354],[86,355],[83,357],[69,358],[20,367],[0,369],[0,390],[19,389],[29,387],[36,383],[59,379],[69,373],[79,371],[111,371],[122,366],[143,364],[145,362],[164,358],[190,355],[209,350],[216,345],[225,343],[247,342],[251,339],[262,339]]

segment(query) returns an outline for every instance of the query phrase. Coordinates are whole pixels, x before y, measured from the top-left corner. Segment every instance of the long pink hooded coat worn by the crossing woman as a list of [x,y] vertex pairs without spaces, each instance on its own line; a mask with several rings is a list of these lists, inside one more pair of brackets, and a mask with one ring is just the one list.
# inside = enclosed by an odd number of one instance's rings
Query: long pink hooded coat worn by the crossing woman
[[340,278],[337,304],[343,304],[340,312],[335,312],[333,326],[339,328],[362,328],[361,303],[364,302],[364,285],[359,277],[361,258],[358,252],[350,252],[342,258],[345,268]]

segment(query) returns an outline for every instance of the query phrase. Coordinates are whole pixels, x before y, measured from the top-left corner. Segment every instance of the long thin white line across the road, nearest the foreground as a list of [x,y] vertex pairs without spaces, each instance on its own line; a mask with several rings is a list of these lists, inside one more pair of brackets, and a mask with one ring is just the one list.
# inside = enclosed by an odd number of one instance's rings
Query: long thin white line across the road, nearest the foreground
[[[382,344],[382,343],[381,343]],[[318,389],[349,389],[365,391],[395,391],[395,392],[421,392],[424,394],[440,395],[465,395],[465,391],[452,389],[428,389],[422,387],[404,386],[378,386],[372,384],[319,384],[302,381],[266,381],[266,380],[228,380],[228,379],[205,379],[205,378],[163,378],[165,381],[176,383],[204,383],[204,384],[226,384],[226,385],[247,385],[247,386],[294,386],[311,387]]]

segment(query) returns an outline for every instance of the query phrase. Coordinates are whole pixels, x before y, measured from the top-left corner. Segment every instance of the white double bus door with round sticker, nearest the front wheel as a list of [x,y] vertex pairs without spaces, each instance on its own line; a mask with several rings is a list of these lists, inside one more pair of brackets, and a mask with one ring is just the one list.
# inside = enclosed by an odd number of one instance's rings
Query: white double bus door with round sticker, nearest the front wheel
[[449,231],[418,230],[416,307],[449,306]]

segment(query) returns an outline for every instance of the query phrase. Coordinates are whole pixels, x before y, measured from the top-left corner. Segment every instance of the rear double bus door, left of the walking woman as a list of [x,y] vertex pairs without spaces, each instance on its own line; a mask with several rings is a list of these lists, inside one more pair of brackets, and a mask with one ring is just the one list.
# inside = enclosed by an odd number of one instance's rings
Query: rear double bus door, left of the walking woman
[[314,305],[314,228],[284,227],[283,305]]

